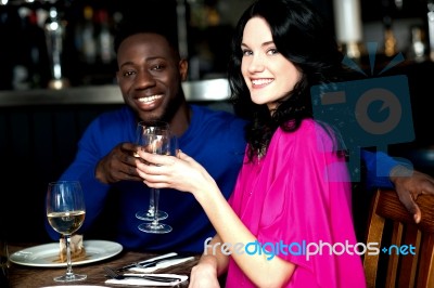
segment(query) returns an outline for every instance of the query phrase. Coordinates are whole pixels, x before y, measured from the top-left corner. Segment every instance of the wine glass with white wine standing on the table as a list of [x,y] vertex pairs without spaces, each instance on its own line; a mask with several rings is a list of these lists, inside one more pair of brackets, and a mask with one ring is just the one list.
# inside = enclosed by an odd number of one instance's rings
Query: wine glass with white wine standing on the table
[[48,184],[48,222],[53,230],[63,235],[66,245],[66,274],[54,277],[55,282],[76,282],[87,278],[87,275],[73,272],[71,260],[71,235],[82,225],[85,215],[85,199],[78,181],[59,181]]

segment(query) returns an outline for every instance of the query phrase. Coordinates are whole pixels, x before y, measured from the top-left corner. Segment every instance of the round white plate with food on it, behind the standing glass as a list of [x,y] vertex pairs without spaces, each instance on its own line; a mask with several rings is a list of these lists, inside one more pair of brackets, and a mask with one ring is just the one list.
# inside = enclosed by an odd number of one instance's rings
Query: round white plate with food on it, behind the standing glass
[[[73,266],[88,264],[114,257],[123,250],[118,243],[105,240],[85,240],[86,259],[73,261]],[[20,265],[37,267],[64,267],[59,262],[59,243],[43,244],[17,251],[9,257],[10,261]]]

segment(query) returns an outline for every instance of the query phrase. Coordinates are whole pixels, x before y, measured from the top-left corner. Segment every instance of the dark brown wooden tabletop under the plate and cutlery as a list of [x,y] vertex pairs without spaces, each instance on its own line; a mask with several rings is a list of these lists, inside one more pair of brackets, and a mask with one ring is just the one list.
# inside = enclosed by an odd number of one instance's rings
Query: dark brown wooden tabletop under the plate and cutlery
[[[21,249],[31,247],[38,244],[26,245],[26,244],[10,244],[9,252],[12,254],[15,251]],[[100,262],[94,262],[86,265],[73,266],[74,272],[81,273],[88,275],[86,280],[71,283],[71,284],[62,284],[55,283],[53,280],[54,276],[59,276],[65,273],[65,267],[33,267],[33,266],[24,266],[11,263],[10,269],[10,287],[11,288],[28,288],[28,287],[46,287],[46,286],[64,286],[64,285],[95,285],[95,286],[106,286],[106,287],[138,287],[138,286],[108,286],[105,285],[105,273],[103,271],[103,266],[111,267],[122,267],[127,264],[131,264],[137,261],[142,261],[149,258],[153,258],[158,256],[157,253],[148,253],[148,252],[137,252],[137,251],[122,251],[119,254],[106,259]],[[197,263],[200,256],[194,256],[193,261],[188,261],[181,263],[179,265],[161,269],[155,271],[155,273],[175,273],[180,275],[190,275],[191,269]],[[176,287],[188,287],[188,282],[182,283]]]

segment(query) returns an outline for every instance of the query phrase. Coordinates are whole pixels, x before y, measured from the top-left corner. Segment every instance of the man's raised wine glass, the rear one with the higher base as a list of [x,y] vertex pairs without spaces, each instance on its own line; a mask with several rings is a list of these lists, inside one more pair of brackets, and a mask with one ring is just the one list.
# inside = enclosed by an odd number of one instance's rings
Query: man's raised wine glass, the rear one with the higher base
[[[149,145],[150,139],[148,138],[148,134],[151,132],[158,132],[158,131],[169,131],[169,125],[165,121],[159,121],[159,120],[140,121],[137,125],[136,143],[140,146]],[[151,188],[150,204],[148,210],[138,211],[136,213],[136,218],[144,221],[153,221],[155,212],[154,202],[155,202],[155,189]],[[156,217],[158,218],[158,220],[164,220],[168,217],[168,214],[165,211],[158,209]]]

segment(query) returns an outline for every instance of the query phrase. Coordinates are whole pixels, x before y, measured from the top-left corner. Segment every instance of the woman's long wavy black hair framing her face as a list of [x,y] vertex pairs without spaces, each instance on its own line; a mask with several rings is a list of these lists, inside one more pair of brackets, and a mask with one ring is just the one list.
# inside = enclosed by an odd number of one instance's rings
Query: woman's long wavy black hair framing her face
[[[241,74],[243,31],[255,16],[268,23],[279,53],[302,73],[302,79],[272,115],[267,105],[252,102]],[[250,160],[266,153],[279,127],[295,131],[303,119],[312,118],[310,88],[339,81],[342,58],[332,25],[307,0],[258,0],[243,13],[232,39],[228,77],[235,112],[252,120],[246,127]]]

